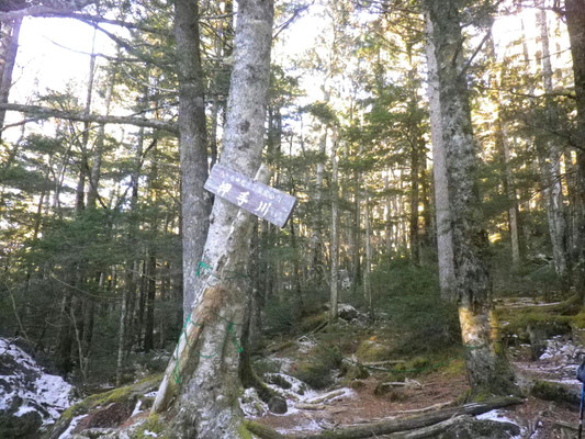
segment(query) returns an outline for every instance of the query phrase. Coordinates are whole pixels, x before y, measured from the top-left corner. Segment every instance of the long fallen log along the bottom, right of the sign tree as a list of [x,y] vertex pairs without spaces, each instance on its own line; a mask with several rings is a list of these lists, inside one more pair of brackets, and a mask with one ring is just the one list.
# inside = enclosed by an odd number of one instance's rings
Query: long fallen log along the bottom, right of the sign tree
[[[292,434],[292,435],[281,435],[275,430],[261,426],[261,428],[256,428],[258,423],[252,423],[254,425],[247,421],[246,427],[252,434],[257,435],[262,439],[362,439],[362,438],[375,438],[382,435],[392,435],[398,434],[408,430],[420,429],[425,427],[430,427],[439,423],[446,421],[448,419],[462,416],[462,415],[481,415],[493,410],[495,408],[507,407],[515,404],[522,403],[524,399],[515,396],[499,397],[487,399],[482,403],[472,403],[465,404],[459,407],[449,407],[424,415],[417,415],[400,419],[386,419],[376,423],[362,424],[359,426],[352,425],[348,427],[342,427],[337,430],[323,431],[316,434]],[[415,431],[413,431],[414,434]],[[393,436],[390,436],[393,438]],[[396,436],[400,438],[400,436]],[[416,436],[413,436],[416,438]]]

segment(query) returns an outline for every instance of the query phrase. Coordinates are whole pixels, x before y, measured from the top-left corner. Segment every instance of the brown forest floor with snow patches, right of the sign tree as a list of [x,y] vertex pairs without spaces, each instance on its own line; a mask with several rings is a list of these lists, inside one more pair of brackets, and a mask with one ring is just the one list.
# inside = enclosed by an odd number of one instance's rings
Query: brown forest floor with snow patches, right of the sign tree
[[[519,309],[550,308],[554,303],[543,303],[533,299],[514,299],[500,302],[506,312],[521,314]],[[506,326],[509,322],[503,322]],[[384,340],[379,339],[383,344]],[[391,341],[389,340],[389,344]],[[571,334],[553,336],[543,342],[540,358],[532,360],[529,344],[518,341],[509,347],[508,357],[520,376],[520,385],[532,380],[565,386],[572,394],[578,394],[581,387],[574,379],[578,356],[583,347],[575,345]],[[289,350],[273,354],[272,360],[288,364],[293,349],[303,349],[302,344]],[[294,356],[294,353],[292,353]],[[285,373],[282,378],[293,380]],[[268,413],[250,416],[252,419],[268,425],[279,432],[317,432],[344,426],[359,425],[370,421],[408,417],[437,409],[449,404],[461,403],[468,392],[462,361],[450,361],[441,368],[430,369],[415,379],[406,379],[406,385],[390,386],[389,391],[380,392],[380,384],[389,381],[389,374],[371,371],[368,378],[349,381],[337,378],[335,384],[326,390],[310,391],[304,394],[294,392],[294,387],[285,391],[289,410],[283,415]],[[278,389],[277,386],[272,386]],[[282,389],[279,389],[282,391]],[[569,401],[567,401],[569,399]],[[565,439],[574,437],[571,428],[578,423],[578,399],[544,401],[529,396],[524,404],[506,409],[498,409],[480,415],[481,419],[500,420],[520,427],[521,439]],[[250,413],[248,413],[250,415]],[[565,425],[565,427],[562,427]]]

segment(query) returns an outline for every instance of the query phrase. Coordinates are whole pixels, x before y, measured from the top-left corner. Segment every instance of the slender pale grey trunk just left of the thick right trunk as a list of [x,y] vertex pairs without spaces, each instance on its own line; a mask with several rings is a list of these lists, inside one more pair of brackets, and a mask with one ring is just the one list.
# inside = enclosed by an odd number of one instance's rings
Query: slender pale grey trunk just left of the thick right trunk
[[437,256],[439,263],[439,283],[441,296],[449,299],[454,295],[455,273],[453,255],[453,234],[449,191],[447,187],[447,165],[445,161],[445,143],[441,128],[441,102],[439,93],[438,66],[432,41],[434,24],[427,15],[427,66],[428,95],[430,110],[430,131],[432,137],[432,175],[435,182],[435,214],[437,217]]

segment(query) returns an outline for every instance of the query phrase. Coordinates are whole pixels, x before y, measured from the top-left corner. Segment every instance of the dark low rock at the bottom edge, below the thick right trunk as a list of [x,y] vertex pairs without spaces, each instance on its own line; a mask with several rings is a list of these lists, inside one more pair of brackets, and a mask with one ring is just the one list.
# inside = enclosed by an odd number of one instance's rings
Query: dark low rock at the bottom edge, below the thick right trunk
[[464,418],[441,434],[439,439],[508,439],[520,435],[520,427],[507,421]]

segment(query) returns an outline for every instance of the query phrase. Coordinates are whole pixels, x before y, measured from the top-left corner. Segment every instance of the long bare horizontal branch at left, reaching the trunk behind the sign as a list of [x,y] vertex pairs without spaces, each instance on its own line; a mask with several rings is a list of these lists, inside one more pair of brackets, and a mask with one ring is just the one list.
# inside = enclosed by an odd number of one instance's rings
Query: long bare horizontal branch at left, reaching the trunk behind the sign
[[0,110],[18,111],[32,114],[37,119],[58,117],[76,122],[94,122],[99,124],[122,124],[144,126],[147,128],[162,130],[172,134],[178,134],[177,125],[172,122],[155,121],[149,119],[138,119],[128,116],[104,116],[101,114],[82,114],[63,110],[49,109],[41,105],[25,105],[19,103],[0,103]]

